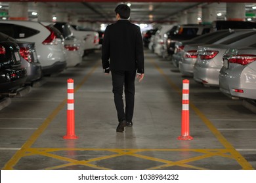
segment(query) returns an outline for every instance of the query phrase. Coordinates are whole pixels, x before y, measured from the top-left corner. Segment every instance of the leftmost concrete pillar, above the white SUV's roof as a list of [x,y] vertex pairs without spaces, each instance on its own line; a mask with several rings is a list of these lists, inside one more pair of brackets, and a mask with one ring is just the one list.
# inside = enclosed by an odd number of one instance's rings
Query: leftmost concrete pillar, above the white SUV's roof
[[10,20],[28,20],[28,3],[9,3]]

